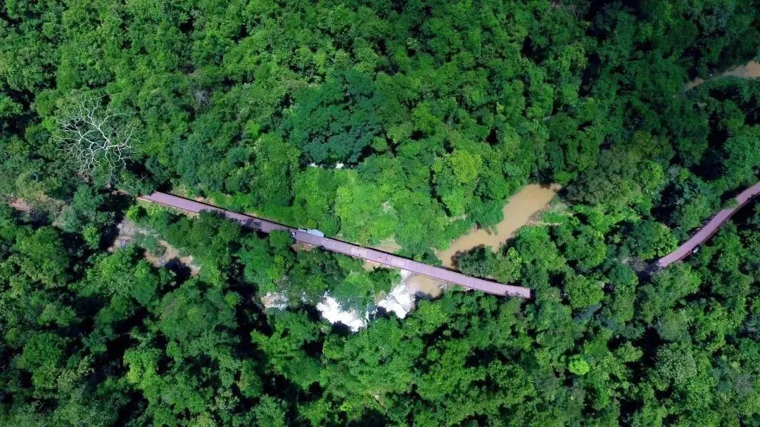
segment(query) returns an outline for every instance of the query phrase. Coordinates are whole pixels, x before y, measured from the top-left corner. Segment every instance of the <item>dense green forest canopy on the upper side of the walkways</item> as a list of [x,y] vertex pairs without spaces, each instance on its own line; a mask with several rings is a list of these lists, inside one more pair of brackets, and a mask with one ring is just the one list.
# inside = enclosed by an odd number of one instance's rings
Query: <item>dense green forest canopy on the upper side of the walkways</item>
[[682,236],[753,179],[756,84],[682,87],[757,54],[755,6],[6,2],[2,190],[71,197],[61,124],[90,103],[134,129],[98,185],[407,255],[497,223],[529,180],[642,213],[668,187]]

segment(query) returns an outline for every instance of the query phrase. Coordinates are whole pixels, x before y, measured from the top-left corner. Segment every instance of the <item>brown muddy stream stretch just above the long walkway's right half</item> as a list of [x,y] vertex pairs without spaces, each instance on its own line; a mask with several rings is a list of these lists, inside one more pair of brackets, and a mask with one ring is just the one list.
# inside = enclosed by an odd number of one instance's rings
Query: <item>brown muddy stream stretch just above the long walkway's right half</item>
[[439,251],[436,255],[443,261],[445,267],[454,268],[454,259],[462,252],[470,251],[478,246],[491,246],[494,250],[498,249],[515,234],[517,229],[527,224],[536,213],[543,210],[546,204],[549,204],[549,201],[556,196],[557,191],[559,191],[559,185],[526,185],[509,199],[504,207],[504,219],[496,226],[495,233],[486,229],[473,228],[464,236],[451,242],[448,249]]

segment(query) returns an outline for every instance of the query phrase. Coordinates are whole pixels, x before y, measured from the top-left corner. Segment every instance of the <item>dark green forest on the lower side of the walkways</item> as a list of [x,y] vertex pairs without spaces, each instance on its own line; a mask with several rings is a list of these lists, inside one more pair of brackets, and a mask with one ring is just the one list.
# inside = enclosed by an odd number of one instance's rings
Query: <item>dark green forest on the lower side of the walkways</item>
[[[721,231],[691,266],[641,284],[623,264],[575,270],[559,249],[556,258],[538,251],[558,237],[524,229],[505,252],[461,262],[524,277],[535,285],[534,302],[450,289],[404,321],[377,319],[347,336],[304,308],[325,292],[349,305],[371,303],[367,297],[388,289],[385,273],[323,251],[293,253],[286,233],[260,239],[207,214],[162,223],[162,212],[130,215],[197,250],[200,278],[153,267],[134,247],[77,258],[56,229],[2,213],[0,272],[11,286],[0,294],[0,357],[10,367],[0,375],[3,422],[635,425],[758,416],[749,381],[760,375],[752,350],[757,283],[747,275],[756,264],[751,217]],[[39,274],[40,259],[57,262],[62,281]],[[231,274],[241,270],[249,273]],[[258,299],[275,291],[292,296],[290,308],[264,314]],[[27,410],[42,400],[48,409]],[[125,413],[135,405],[139,413]],[[621,419],[623,405],[638,409]]]

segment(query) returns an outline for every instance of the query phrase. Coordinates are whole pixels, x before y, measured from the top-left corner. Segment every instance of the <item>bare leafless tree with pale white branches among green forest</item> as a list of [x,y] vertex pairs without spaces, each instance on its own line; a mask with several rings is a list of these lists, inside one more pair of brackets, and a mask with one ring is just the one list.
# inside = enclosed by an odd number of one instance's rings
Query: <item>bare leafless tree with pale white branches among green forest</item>
[[81,176],[92,177],[96,169],[114,176],[125,166],[135,143],[135,125],[123,124],[102,97],[78,95],[59,119],[61,132],[55,135],[61,150],[68,153]]

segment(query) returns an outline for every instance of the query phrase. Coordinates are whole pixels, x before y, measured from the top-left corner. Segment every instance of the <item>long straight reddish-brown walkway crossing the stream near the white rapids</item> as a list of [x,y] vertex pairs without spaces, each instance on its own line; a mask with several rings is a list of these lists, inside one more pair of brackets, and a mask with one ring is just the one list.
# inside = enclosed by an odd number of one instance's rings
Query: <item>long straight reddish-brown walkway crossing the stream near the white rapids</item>
[[341,242],[337,239],[315,236],[300,229],[294,229],[277,223],[272,223],[271,221],[261,220],[256,217],[250,217],[249,215],[244,215],[242,213],[235,213],[231,212],[230,210],[220,209],[219,207],[211,206],[210,204],[204,204],[199,201],[192,201],[186,198],[180,198],[175,195],[168,195],[161,192],[155,192],[152,195],[143,196],[140,198],[140,200],[163,204],[169,207],[176,207],[177,209],[186,210],[188,212],[199,213],[201,210],[219,212],[227,218],[242,223],[243,226],[257,229],[261,232],[271,232],[274,230],[289,231],[293,238],[296,239],[296,241],[325,248],[328,251],[350,255],[356,258],[363,258],[368,261],[375,261],[380,264],[387,265],[388,267],[403,268],[404,270],[410,270],[413,273],[423,274],[425,276],[444,280],[445,282],[449,283],[457,283],[458,285],[471,289],[478,289],[486,293],[492,293],[499,296],[518,296],[521,298],[530,298],[530,289],[527,288],[520,286],[502,285],[501,283],[491,282],[489,280],[465,276],[464,274],[446,270],[445,268],[433,267],[432,265],[412,261],[407,258],[401,258],[397,255],[388,254],[383,251],[377,251],[375,249],[363,248],[358,245]]

